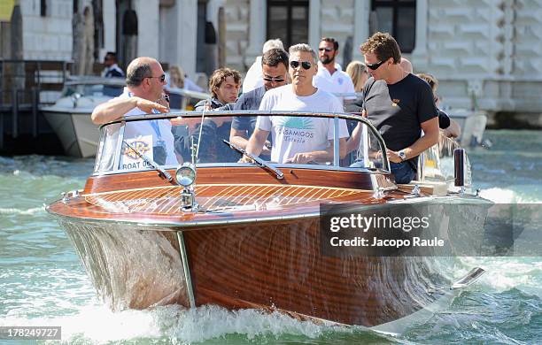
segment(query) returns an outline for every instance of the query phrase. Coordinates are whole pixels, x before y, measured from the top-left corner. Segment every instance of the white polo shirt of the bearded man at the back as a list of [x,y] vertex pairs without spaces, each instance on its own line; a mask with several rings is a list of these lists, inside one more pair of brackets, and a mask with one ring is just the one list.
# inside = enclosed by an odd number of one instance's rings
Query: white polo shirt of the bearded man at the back
[[339,64],[335,64],[335,68],[337,71],[330,74],[328,69],[319,62],[318,73],[313,78],[313,85],[331,94],[352,94],[352,96],[337,96],[341,102],[344,99],[356,99],[357,97],[353,95],[356,91],[350,75],[343,72]]

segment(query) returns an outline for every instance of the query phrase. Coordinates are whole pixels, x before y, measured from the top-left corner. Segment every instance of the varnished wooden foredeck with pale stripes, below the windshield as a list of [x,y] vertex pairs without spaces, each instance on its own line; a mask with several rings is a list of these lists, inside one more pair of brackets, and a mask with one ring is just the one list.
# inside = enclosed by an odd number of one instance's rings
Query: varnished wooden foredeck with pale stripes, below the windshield
[[[277,180],[252,167],[232,168],[228,176],[220,177],[216,168],[198,172],[198,212],[182,211],[182,187],[161,180],[156,172],[134,173],[130,180],[120,180],[121,174],[91,177],[80,196],[54,203],[50,210],[71,218],[144,219],[188,226],[202,221],[314,217],[321,203],[379,204],[408,195],[394,190],[386,199],[375,198],[374,184],[379,182],[368,173],[337,175],[333,171],[290,169],[284,172],[283,180]],[[341,178],[345,174],[351,176]],[[329,181],[329,186],[322,187],[321,180]]]

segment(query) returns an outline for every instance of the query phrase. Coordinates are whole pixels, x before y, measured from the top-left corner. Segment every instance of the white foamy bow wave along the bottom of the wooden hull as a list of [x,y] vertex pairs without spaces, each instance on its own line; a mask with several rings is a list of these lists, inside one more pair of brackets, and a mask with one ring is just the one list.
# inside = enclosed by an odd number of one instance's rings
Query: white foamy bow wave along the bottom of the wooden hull
[[[215,305],[185,310],[169,305],[146,311],[112,312],[105,306],[81,307],[77,314],[51,318],[21,318],[8,313],[0,318],[0,326],[61,326],[62,340],[123,341],[137,338],[194,342],[219,338],[227,334],[244,334],[248,339],[260,335],[281,334],[316,338],[329,326],[298,321],[279,312],[257,310],[228,311]],[[333,327],[334,331],[348,328]]]

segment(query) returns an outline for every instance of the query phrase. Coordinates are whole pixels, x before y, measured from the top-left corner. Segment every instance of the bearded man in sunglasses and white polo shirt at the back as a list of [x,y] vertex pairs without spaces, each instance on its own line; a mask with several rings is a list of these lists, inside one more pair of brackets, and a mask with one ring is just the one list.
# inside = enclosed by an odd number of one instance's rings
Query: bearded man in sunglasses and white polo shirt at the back
[[331,94],[352,94],[337,96],[342,103],[351,103],[356,99],[355,89],[350,76],[343,72],[341,65],[335,62],[338,55],[338,42],[334,38],[324,37],[318,45],[318,73],[314,76],[314,86]]

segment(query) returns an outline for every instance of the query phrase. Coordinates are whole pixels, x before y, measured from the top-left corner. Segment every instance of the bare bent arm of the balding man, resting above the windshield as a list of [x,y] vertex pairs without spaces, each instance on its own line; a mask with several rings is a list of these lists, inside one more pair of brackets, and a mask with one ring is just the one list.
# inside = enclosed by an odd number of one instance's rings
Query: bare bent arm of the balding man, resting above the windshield
[[145,113],[151,113],[152,109],[156,109],[160,112],[169,111],[169,108],[165,105],[133,96],[99,104],[94,108],[94,111],[92,111],[90,119],[92,119],[92,122],[96,125],[102,125],[115,119],[120,119],[124,114],[134,108],[139,108]]

